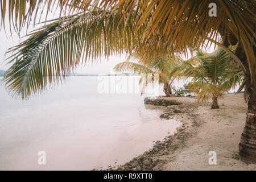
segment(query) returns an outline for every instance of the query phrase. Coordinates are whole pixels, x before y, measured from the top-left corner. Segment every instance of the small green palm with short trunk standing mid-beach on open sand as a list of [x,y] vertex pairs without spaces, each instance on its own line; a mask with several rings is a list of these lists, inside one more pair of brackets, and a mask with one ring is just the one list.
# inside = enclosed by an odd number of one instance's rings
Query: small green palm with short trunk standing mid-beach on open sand
[[243,72],[240,67],[230,61],[230,56],[218,48],[213,53],[204,53],[199,49],[196,56],[180,66],[182,76],[192,77],[188,88],[197,93],[198,101],[212,98],[212,109],[218,109],[218,98],[226,91],[240,85]]

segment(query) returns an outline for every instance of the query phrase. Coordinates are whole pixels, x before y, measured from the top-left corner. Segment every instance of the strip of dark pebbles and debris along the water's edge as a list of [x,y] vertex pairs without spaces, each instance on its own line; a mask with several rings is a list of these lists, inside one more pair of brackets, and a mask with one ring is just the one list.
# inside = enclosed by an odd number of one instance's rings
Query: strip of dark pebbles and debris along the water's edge
[[[105,169],[107,171],[147,171],[160,170],[170,161],[168,155],[174,154],[178,147],[184,145],[185,139],[195,134],[197,127],[203,121],[200,120],[198,114],[194,114],[196,109],[201,105],[193,102],[194,97],[170,97],[165,99],[181,101],[181,105],[171,106],[151,106],[154,109],[162,109],[163,114],[159,118],[162,119],[177,119],[181,122],[181,126],[177,127],[176,132],[172,135],[167,135],[164,140],[154,141],[153,148],[145,151],[143,154],[131,159],[129,162],[121,166],[110,166]],[[191,101],[187,101],[191,100]]]

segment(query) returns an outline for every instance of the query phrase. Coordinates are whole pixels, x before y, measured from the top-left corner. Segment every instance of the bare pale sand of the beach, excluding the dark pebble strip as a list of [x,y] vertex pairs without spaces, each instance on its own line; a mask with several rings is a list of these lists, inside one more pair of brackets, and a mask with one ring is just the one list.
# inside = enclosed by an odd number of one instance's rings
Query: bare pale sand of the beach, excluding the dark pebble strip
[[[177,98],[194,102],[193,98]],[[169,160],[164,170],[256,170],[256,165],[247,166],[239,160],[238,144],[245,125],[247,105],[243,93],[228,94],[219,100],[220,109],[200,106],[197,113],[204,123],[191,132],[195,134],[185,141],[174,154],[168,155]],[[216,151],[217,164],[210,165],[209,151]]]

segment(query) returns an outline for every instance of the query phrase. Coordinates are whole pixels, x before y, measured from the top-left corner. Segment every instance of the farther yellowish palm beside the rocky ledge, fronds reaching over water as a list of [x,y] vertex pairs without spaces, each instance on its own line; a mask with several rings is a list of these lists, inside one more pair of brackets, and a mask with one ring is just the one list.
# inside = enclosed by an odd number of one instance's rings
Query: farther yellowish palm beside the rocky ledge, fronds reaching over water
[[[134,63],[129,60],[139,60],[138,63]],[[139,59],[134,54],[131,54],[127,61],[123,61],[115,65],[114,70],[117,72],[132,71],[134,73],[144,73],[145,75],[139,80],[139,84],[142,84],[142,93],[145,87],[155,81],[155,77],[158,76],[159,84],[163,84],[163,91],[166,97],[170,97],[172,94],[171,84],[177,76],[177,69],[179,68],[181,59],[177,56],[170,57],[162,55],[154,60],[150,56],[147,56],[146,60]],[[150,76],[150,79],[148,79]]]

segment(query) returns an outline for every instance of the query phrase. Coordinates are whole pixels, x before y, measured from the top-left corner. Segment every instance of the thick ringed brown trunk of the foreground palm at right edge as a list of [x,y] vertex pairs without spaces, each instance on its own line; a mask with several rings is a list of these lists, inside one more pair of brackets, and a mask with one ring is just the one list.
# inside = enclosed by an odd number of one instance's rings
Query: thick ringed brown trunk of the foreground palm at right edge
[[247,164],[256,164],[256,92],[248,90],[248,111],[245,127],[239,144],[241,160]]

